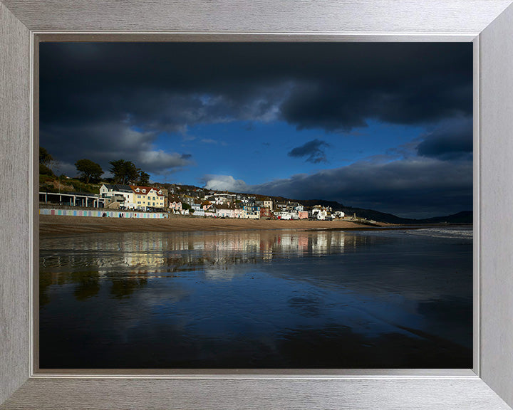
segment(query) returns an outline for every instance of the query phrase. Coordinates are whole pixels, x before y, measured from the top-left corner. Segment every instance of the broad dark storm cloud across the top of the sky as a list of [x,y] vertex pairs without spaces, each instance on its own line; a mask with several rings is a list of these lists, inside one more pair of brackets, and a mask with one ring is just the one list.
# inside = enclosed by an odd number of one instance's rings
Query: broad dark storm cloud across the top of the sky
[[41,43],[41,121],[351,130],[472,112],[470,43]]

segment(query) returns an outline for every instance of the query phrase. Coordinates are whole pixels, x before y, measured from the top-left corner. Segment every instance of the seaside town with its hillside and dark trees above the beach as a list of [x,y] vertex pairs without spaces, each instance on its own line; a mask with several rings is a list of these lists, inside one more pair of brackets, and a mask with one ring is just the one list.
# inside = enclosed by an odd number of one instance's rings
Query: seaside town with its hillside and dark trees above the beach
[[[168,218],[170,215],[220,219],[352,220],[331,206],[256,194],[180,184],[150,184],[149,174],[123,159],[110,162],[112,178],[88,159],[76,162],[79,176],[56,177],[51,154],[40,148],[39,214],[118,218]],[[78,188],[78,189],[77,189]]]

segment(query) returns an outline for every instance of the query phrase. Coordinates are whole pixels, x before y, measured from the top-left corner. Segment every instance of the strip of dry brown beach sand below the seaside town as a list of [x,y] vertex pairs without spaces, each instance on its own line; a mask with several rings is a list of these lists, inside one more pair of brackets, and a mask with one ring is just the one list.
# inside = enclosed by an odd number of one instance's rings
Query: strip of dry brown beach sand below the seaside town
[[[387,226],[387,224],[380,224]],[[88,232],[184,232],[246,231],[254,229],[358,229],[368,225],[351,221],[269,221],[249,219],[213,219],[172,216],[170,219],[95,218],[88,216],[39,216],[42,236]]]

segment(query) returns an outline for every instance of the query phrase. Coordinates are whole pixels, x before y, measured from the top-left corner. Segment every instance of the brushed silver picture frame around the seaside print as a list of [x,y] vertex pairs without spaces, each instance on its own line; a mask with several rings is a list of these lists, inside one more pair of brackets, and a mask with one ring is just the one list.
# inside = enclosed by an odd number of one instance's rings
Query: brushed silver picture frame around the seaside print
[[[510,409],[512,0],[0,0],[0,409]],[[39,41],[472,41],[473,369],[36,371]]]

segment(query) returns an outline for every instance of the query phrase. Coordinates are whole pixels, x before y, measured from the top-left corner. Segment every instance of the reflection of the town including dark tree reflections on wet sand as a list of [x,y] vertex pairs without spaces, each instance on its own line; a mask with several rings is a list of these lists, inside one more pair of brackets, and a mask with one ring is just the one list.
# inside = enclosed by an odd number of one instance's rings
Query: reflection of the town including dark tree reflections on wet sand
[[[48,303],[49,285],[78,283],[74,294],[77,300],[83,300],[98,293],[101,278],[109,278],[112,294],[125,298],[142,288],[148,275],[203,267],[211,280],[231,278],[232,273],[223,270],[232,265],[343,253],[346,247],[372,241],[375,238],[343,231],[119,233],[48,238],[40,250],[40,300],[41,305]],[[123,278],[119,278],[118,270]]]

